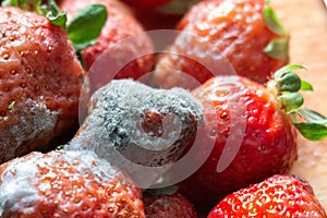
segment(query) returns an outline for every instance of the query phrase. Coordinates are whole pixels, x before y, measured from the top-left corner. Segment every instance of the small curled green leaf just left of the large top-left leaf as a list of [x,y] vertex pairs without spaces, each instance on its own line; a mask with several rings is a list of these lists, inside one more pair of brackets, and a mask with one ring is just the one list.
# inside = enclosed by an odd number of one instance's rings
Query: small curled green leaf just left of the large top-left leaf
[[[65,28],[66,14],[65,11],[60,11],[55,0],[49,0],[49,5],[46,16],[49,21],[57,26]],[[46,10],[44,10],[45,12]]]

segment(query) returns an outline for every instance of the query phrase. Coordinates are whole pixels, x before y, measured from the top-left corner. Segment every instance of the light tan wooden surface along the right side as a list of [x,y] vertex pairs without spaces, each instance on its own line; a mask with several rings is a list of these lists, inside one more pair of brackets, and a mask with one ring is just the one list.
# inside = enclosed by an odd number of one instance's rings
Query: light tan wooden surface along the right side
[[[299,72],[314,86],[314,92],[305,95],[305,107],[327,116],[327,9],[323,0],[270,2],[291,35],[291,62],[308,69],[308,72]],[[292,173],[308,180],[327,209],[327,140],[311,143],[300,137],[299,158]]]

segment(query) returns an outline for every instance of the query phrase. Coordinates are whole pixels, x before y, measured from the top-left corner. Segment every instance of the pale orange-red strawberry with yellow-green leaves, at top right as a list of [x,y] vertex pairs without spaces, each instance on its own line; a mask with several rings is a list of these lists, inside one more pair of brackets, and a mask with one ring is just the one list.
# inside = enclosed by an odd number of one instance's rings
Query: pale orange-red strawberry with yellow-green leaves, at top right
[[156,65],[154,80],[158,85],[194,88],[190,80],[183,80],[183,73],[204,83],[234,71],[265,83],[271,72],[288,62],[289,36],[264,0],[199,2],[177,31],[181,33]]

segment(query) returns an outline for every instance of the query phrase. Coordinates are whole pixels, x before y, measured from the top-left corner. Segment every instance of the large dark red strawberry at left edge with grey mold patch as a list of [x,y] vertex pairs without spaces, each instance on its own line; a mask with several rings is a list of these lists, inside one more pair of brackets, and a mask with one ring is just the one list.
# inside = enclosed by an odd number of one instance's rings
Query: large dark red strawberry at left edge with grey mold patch
[[85,72],[64,29],[0,8],[0,162],[66,142],[78,128]]

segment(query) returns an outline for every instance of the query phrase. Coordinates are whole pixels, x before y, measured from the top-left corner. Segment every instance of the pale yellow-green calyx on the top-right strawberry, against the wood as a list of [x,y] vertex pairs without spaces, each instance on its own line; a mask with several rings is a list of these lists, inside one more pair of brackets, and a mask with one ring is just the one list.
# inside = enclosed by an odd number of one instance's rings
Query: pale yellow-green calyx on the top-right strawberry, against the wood
[[274,59],[282,59],[289,61],[289,35],[283,28],[277,14],[270,7],[269,2],[266,1],[263,17],[267,27],[279,37],[271,39],[268,45],[264,48],[264,51]]

